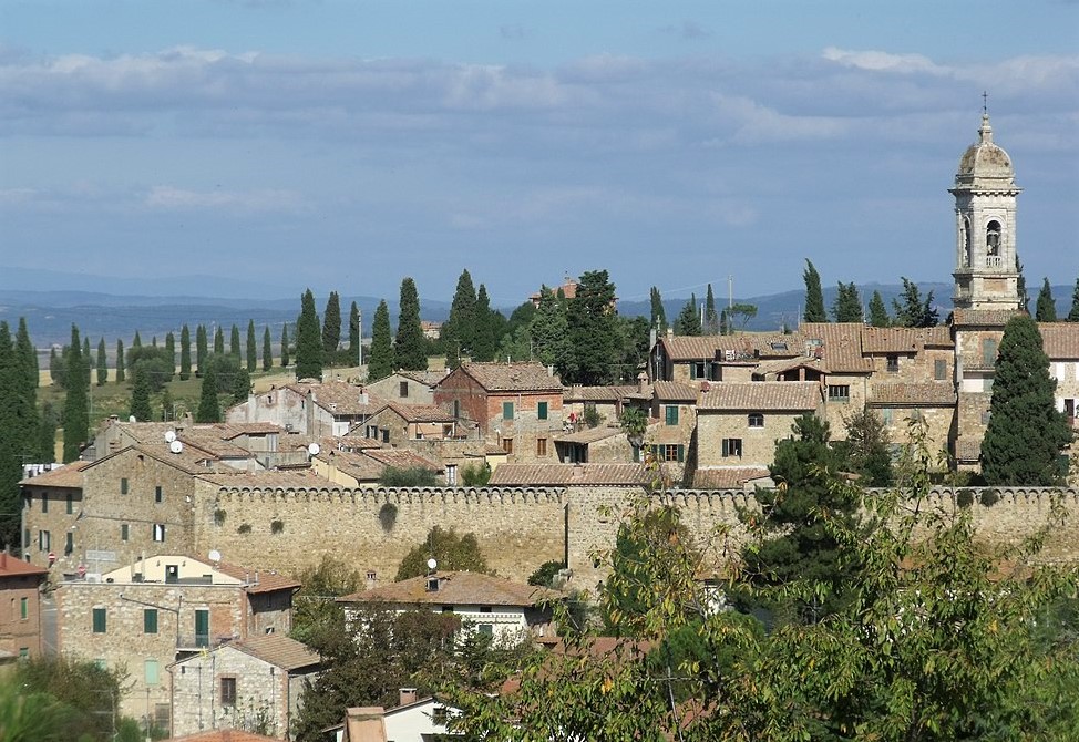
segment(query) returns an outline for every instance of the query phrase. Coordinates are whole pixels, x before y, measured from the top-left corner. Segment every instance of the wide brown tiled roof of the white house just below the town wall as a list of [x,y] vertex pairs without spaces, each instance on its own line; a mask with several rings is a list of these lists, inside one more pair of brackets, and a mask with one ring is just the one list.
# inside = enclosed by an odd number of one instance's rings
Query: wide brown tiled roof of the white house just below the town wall
[[[428,581],[438,577],[439,589],[429,590]],[[422,604],[456,604],[477,606],[528,607],[557,600],[554,590],[513,583],[502,577],[475,571],[440,571],[433,576],[413,577],[361,592],[353,592],[340,602],[391,602],[410,606]]]

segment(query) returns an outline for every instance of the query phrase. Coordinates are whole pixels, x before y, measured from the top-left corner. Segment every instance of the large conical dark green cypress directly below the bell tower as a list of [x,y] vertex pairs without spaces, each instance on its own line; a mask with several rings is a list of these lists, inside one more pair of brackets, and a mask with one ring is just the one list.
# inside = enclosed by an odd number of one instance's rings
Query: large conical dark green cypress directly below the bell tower
[[1056,408],[1038,326],[1029,316],[1004,328],[996,361],[989,424],[982,442],[982,475],[990,485],[1048,486],[1067,474],[1061,452],[1072,431]]

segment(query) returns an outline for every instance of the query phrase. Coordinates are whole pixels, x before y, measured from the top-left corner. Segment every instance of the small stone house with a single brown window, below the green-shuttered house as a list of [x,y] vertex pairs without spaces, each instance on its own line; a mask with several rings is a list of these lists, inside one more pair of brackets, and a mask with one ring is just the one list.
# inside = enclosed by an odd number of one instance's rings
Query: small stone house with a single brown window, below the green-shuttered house
[[291,739],[305,682],[315,682],[321,659],[281,633],[253,636],[191,655],[168,666],[173,734],[258,726]]

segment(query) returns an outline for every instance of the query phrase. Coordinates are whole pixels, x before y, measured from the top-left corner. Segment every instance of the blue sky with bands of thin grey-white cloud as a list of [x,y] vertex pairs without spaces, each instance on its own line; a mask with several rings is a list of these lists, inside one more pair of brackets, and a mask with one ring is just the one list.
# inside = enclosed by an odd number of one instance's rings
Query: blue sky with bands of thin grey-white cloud
[[0,0],[0,265],[495,303],[948,281],[983,90],[1079,275],[1079,3]]

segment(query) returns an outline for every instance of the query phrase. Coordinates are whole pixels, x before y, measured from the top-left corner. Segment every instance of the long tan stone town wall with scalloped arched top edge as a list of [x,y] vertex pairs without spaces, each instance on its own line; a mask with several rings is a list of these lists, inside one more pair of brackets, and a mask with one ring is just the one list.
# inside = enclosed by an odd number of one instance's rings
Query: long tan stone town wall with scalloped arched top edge
[[[620,516],[630,497],[641,492],[625,487],[270,491],[205,486],[205,496],[197,498],[197,550],[219,549],[233,563],[297,573],[331,555],[361,573],[373,571],[378,581],[389,581],[409,549],[438,525],[474,533],[487,564],[521,581],[544,561],[568,554],[574,584],[589,589],[603,579],[594,555],[614,547]],[[972,492],[978,529],[987,538],[1007,543],[1045,525],[1054,493],[1061,493],[998,489],[998,501],[985,506],[982,491]],[[1079,489],[1062,491],[1060,496],[1069,517],[1051,528],[1044,556],[1079,561]],[[738,511],[757,506],[752,493],[742,491],[671,491],[655,497],[681,509],[690,530],[709,539],[717,555],[737,553],[746,534]],[[928,505],[954,508],[955,494],[934,491]],[[215,511],[224,512],[220,525]]]

